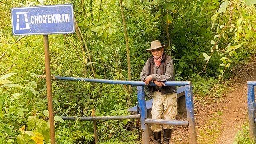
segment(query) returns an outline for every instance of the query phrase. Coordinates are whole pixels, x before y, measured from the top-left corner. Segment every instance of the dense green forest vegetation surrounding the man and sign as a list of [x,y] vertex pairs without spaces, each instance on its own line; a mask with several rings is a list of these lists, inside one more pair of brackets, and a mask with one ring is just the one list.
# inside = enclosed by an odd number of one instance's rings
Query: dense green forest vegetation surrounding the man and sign
[[[254,3],[249,5],[248,1]],[[64,3],[73,4],[86,46],[79,32],[49,35],[52,74],[128,80],[124,29],[116,0],[3,0],[0,2],[0,55],[4,54],[0,57],[0,143],[42,144],[49,140],[46,81],[37,77],[45,74],[43,36],[19,39],[20,36],[12,35],[10,9]],[[212,90],[219,76],[230,77],[232,67],[256,51],[255,3],[255,0],[123,0],[131,79],[140,80],[140,71],[150,56],[145,49],[152,40],[159,39],[168,45],[165,52],[173,56],[176,80],[193,81],[196,100],[219,97],[222,90],[218,89],[217,94]],[[216,12],[218,17],[213,20]],[[238,35],[239,39],[233,40]],[[132,90],[129,93],[128,86],[123,85],[53,80],[56,142],[92,143],[91,121],[64,122],[59,116],[91,116],[92,109],[96,116],[127,115],[126,109],[137,101],[136,87]],[[97,121],[99,142],[137,143],[136,123],[137,120]],[[208,135],[216,139],[214,133],[218,133],[220,124],[215,119],[210,121],[209,127],[215,126],[207,130]]]

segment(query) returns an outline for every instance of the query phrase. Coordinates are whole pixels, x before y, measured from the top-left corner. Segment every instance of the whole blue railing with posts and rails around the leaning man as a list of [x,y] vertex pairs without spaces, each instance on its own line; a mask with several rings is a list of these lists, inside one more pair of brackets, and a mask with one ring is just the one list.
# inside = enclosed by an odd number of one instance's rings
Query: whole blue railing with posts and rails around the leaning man
[[[42,76],[39,76],[42,77]],[[142,140],[143,144],[149,144],[149,130],[147,124],[162,124],[162,125],[188,125],[190,134],[190,143],[197,144],[197,135],[195,128],[194,119],[194,103],[193,103],[193,93],[192,93],[192,82],[191,81],[166,81],[164,84],[166,86],[185,86],[185,97],[186,97],[186,109],[187,109],[187,121],[168,121],[168,120],[156,120],[147,118],[147,107],[145,101],[144,87],[145,82],[143,81],[121,81],[121,80],[107,80],[107,79],[88,79],[79,77],[53,77],[57,80],[68,80],[68,81],[86,81],[86,82],[96,82],[105,84],[127,84],[137,86],[137,99],[139,102],[139,112],[140,121],[142,129]],[[156,84],[150,83],[150,86],[155,86]],[[136,116],[126,116],[125,118],[137,118]],[[64,120],[92,120],[91,117],[62,117]],[[93,120],[97,120],[100,117],[94,117]],[[116,118],[123,118],[122,116],[116,116]],[[110,120],[114,118],[101,117],[100,120]]]

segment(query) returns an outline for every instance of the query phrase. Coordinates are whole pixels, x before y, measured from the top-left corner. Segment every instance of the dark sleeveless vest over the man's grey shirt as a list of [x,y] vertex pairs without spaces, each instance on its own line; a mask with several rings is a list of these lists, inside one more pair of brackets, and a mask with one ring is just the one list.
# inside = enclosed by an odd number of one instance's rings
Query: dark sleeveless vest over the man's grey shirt
[[[163,60],[161,61],[161,65],[160,65],[160,74],[165,74],[165,70],[166,70],[166,65],[168,63],[168,61],[171,60],[171,57],[163,54]],[[149,58],[149,74],[154,74],[154,67],[156,67],[155,62],[154,62],[154,58],[153,56]],[[171,81],[175,81],[174,79],[174,74],[171,77]],[[152,95],[154,90],[154,86],[149,86],[149,93]],[[171,93],[175,93],[177,90],[176,86],[162,86],[161,87],[161,92],[162,95],[168,95]]]

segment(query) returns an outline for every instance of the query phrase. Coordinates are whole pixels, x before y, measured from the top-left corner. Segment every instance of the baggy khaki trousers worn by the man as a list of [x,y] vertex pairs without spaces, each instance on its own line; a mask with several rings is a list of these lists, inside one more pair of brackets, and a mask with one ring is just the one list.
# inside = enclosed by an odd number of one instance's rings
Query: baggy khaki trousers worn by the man
[[[152,119],[174,120],[177,115],[177,94],[162,95],[161,92],[153,92],[151,115]],[[163,125],[164,129],[173,129],[173,125]],[[162,125],[151,125],[153,132],[162,130]]]

